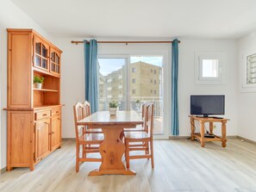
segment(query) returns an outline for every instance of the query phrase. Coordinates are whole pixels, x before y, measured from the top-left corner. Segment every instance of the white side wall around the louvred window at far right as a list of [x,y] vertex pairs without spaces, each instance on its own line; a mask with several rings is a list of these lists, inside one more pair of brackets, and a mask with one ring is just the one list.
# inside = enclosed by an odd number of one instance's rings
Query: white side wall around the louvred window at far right
[[240,84],[238,94],[238,130],[241,137],[256,141],[256,92],[247,92],[247,89],[241,89],[242,74],[242,55],[244,53],[256,53],[256,31],[240,38],[238,40],[238,57],[240,66]]

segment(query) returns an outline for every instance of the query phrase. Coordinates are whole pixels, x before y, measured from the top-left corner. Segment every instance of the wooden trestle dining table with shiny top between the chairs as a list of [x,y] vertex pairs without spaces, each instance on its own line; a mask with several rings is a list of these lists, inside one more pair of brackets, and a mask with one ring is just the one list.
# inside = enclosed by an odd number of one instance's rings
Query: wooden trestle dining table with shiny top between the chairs
[[116,115],[109,115],[109,111],[98,111],[87,116],[78,125],[90,128],[102,128],[104,139],[99,146],[102,164],[99,169],[92,170],[89,176],[105,174],[135,175],[133,170],[126,169],[122,162],[125,145],[122,141],[123,128],[134,128],[143,123],[135,111],[117,111]]

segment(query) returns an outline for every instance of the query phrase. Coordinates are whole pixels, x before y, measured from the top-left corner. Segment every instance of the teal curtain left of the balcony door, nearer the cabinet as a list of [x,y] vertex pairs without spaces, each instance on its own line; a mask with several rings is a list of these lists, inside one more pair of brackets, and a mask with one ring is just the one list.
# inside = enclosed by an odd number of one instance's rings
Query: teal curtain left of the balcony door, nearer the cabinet
[[91,104],[91,113],[98,109],[97,40],[84,40],[85,100]]

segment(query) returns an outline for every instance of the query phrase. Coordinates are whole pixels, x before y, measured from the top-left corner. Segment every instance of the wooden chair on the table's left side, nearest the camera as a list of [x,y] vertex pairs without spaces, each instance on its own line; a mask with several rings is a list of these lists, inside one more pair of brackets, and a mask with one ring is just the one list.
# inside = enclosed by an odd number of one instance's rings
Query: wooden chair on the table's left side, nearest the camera
[[[99,152],[98,145],[103,142],[104,136],[100,133],[86,133],[86,127],[79,126],[78,121],[84,119],[84,104],[77,102],[73,106],[75,131],[76,131],[76,171],[79,171],[80,162],[101,162],[101,158],[88,158],[87,154]],[[91,146],[93,145],[93,146]],[[94,146],[97,145],[97,146]],[[82,146],[82,157],[80,157],[80,146]]]

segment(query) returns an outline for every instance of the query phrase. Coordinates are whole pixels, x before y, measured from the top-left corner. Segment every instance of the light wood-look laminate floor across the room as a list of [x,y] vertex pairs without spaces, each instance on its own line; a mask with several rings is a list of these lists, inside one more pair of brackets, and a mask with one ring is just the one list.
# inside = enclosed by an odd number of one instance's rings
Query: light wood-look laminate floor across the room
[[34,171],[18,168],[0,176],[1,192],[47,191],[256,191],[256,146],[228,139],[220,142],[154,141],[155,169],[147,159],[133,160],[131,176],[87,177],[98,163],[84,163],[75,171],[75,142],[64,141]]

